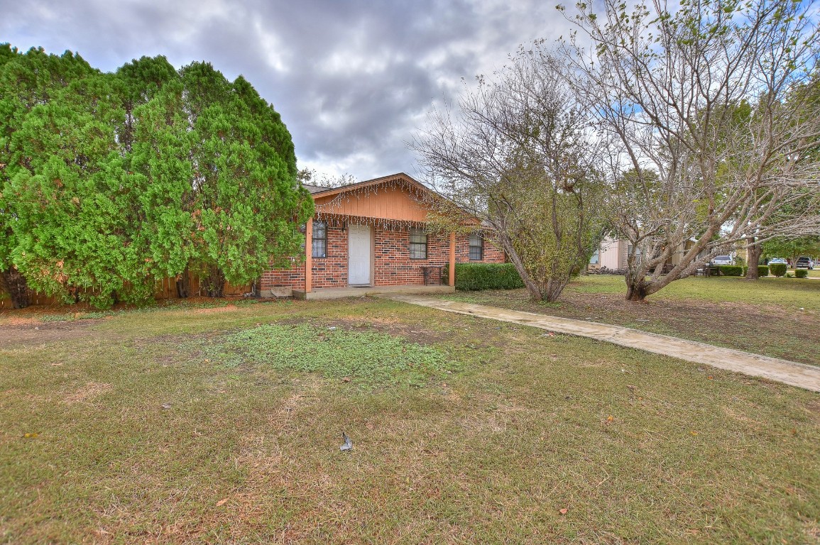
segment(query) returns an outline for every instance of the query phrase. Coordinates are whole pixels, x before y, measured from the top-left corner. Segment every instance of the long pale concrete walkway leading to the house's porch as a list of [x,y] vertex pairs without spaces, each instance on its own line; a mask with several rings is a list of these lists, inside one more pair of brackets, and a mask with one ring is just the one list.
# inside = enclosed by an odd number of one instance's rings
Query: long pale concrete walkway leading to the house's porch
[[732,350],[731,348],[715,347],[710,344],[647,333],[637,329],[621,327],[620,325],[601,324],[587,320],[570,320],[568,318],[535,314],[534,312],[509,311],[504,308],[445,301],[444,299],[432,297],[393,295],[389,298],[421,307],[436,308],[440,311],[479,316],[490,320],[549,329],[549,331],[557,333],[595,338],[599,341],[619,344],[622,347],[638,348],[646,352],[672,356],[704,366],[713,366],[745,375],[763,377],[783,384],[797,386],[798,388],[820,392],[820,367],[807,366],[795,361],[759,356],[758,354]]

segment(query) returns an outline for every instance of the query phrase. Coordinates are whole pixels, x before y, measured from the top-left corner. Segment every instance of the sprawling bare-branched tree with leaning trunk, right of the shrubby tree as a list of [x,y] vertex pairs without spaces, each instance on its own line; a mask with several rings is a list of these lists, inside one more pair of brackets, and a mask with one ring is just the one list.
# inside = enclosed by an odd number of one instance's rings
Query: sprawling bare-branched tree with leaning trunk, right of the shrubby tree
[[[642,300],[726,248],[818,226],[811,2],[579,3],[561,51],[608,146],[613,230]],[[563,9],[563,8],[559,8]],[[582,43],[591,42],[586,49]],[[752,256],[754,259],[754,255]],[[667,269],[667,270],[664,270]],[[669,270],[671,269],[671,270]]]

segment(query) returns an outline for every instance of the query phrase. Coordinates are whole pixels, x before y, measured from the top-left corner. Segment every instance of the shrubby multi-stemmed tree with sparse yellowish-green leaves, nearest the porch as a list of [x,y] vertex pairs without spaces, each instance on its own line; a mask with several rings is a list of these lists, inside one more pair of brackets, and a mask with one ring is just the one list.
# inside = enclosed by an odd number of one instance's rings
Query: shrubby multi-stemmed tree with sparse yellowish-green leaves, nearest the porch
[[435,223],[481,220],[536,300],[558,298],[604,232],[596,139],[562,70],[548,53],[522,50],[465,88],[456,111],[433,111],[408,143],[447,198],[430,199]]

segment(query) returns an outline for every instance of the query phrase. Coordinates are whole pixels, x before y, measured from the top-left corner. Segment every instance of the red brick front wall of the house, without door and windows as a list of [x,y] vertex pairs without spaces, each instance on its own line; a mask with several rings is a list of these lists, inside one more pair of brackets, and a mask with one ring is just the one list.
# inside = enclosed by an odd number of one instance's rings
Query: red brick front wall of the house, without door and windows
[[[374,284],[400,286],[424,284],[421,266],[445,266],[449,262],[449,236],[430,234],[427,237],[427,259],[410,259],[410,232],[407,227],[374,231]],[[456,237],[456,261],[470,261],[470,239]],[[504,253],[489,240],[484,243],[483,263],[503,263]],[[434,273],[435,274],[435,273]],[[430,278],[430,284],[437,279]],[[304,289],[304,264],[291,270],[271,269],[262,274],[262,291],[271,288]],[[327,257],[312,258],[313,288],[344,288],[348,285],[348,231],[342,222],[330,221],[327,227]]]

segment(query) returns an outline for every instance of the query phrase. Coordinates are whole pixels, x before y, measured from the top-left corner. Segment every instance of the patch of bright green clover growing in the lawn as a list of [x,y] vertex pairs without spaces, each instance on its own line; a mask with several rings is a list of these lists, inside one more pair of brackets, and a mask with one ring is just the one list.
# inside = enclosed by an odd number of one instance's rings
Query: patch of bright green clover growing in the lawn
[[328,379],[350,379],[365,388],[421,387],[453,370],[447,355],[435,347],[377,331],[310,324],[245,329],[208,342],[203,353],[225,366],[318,373]]

